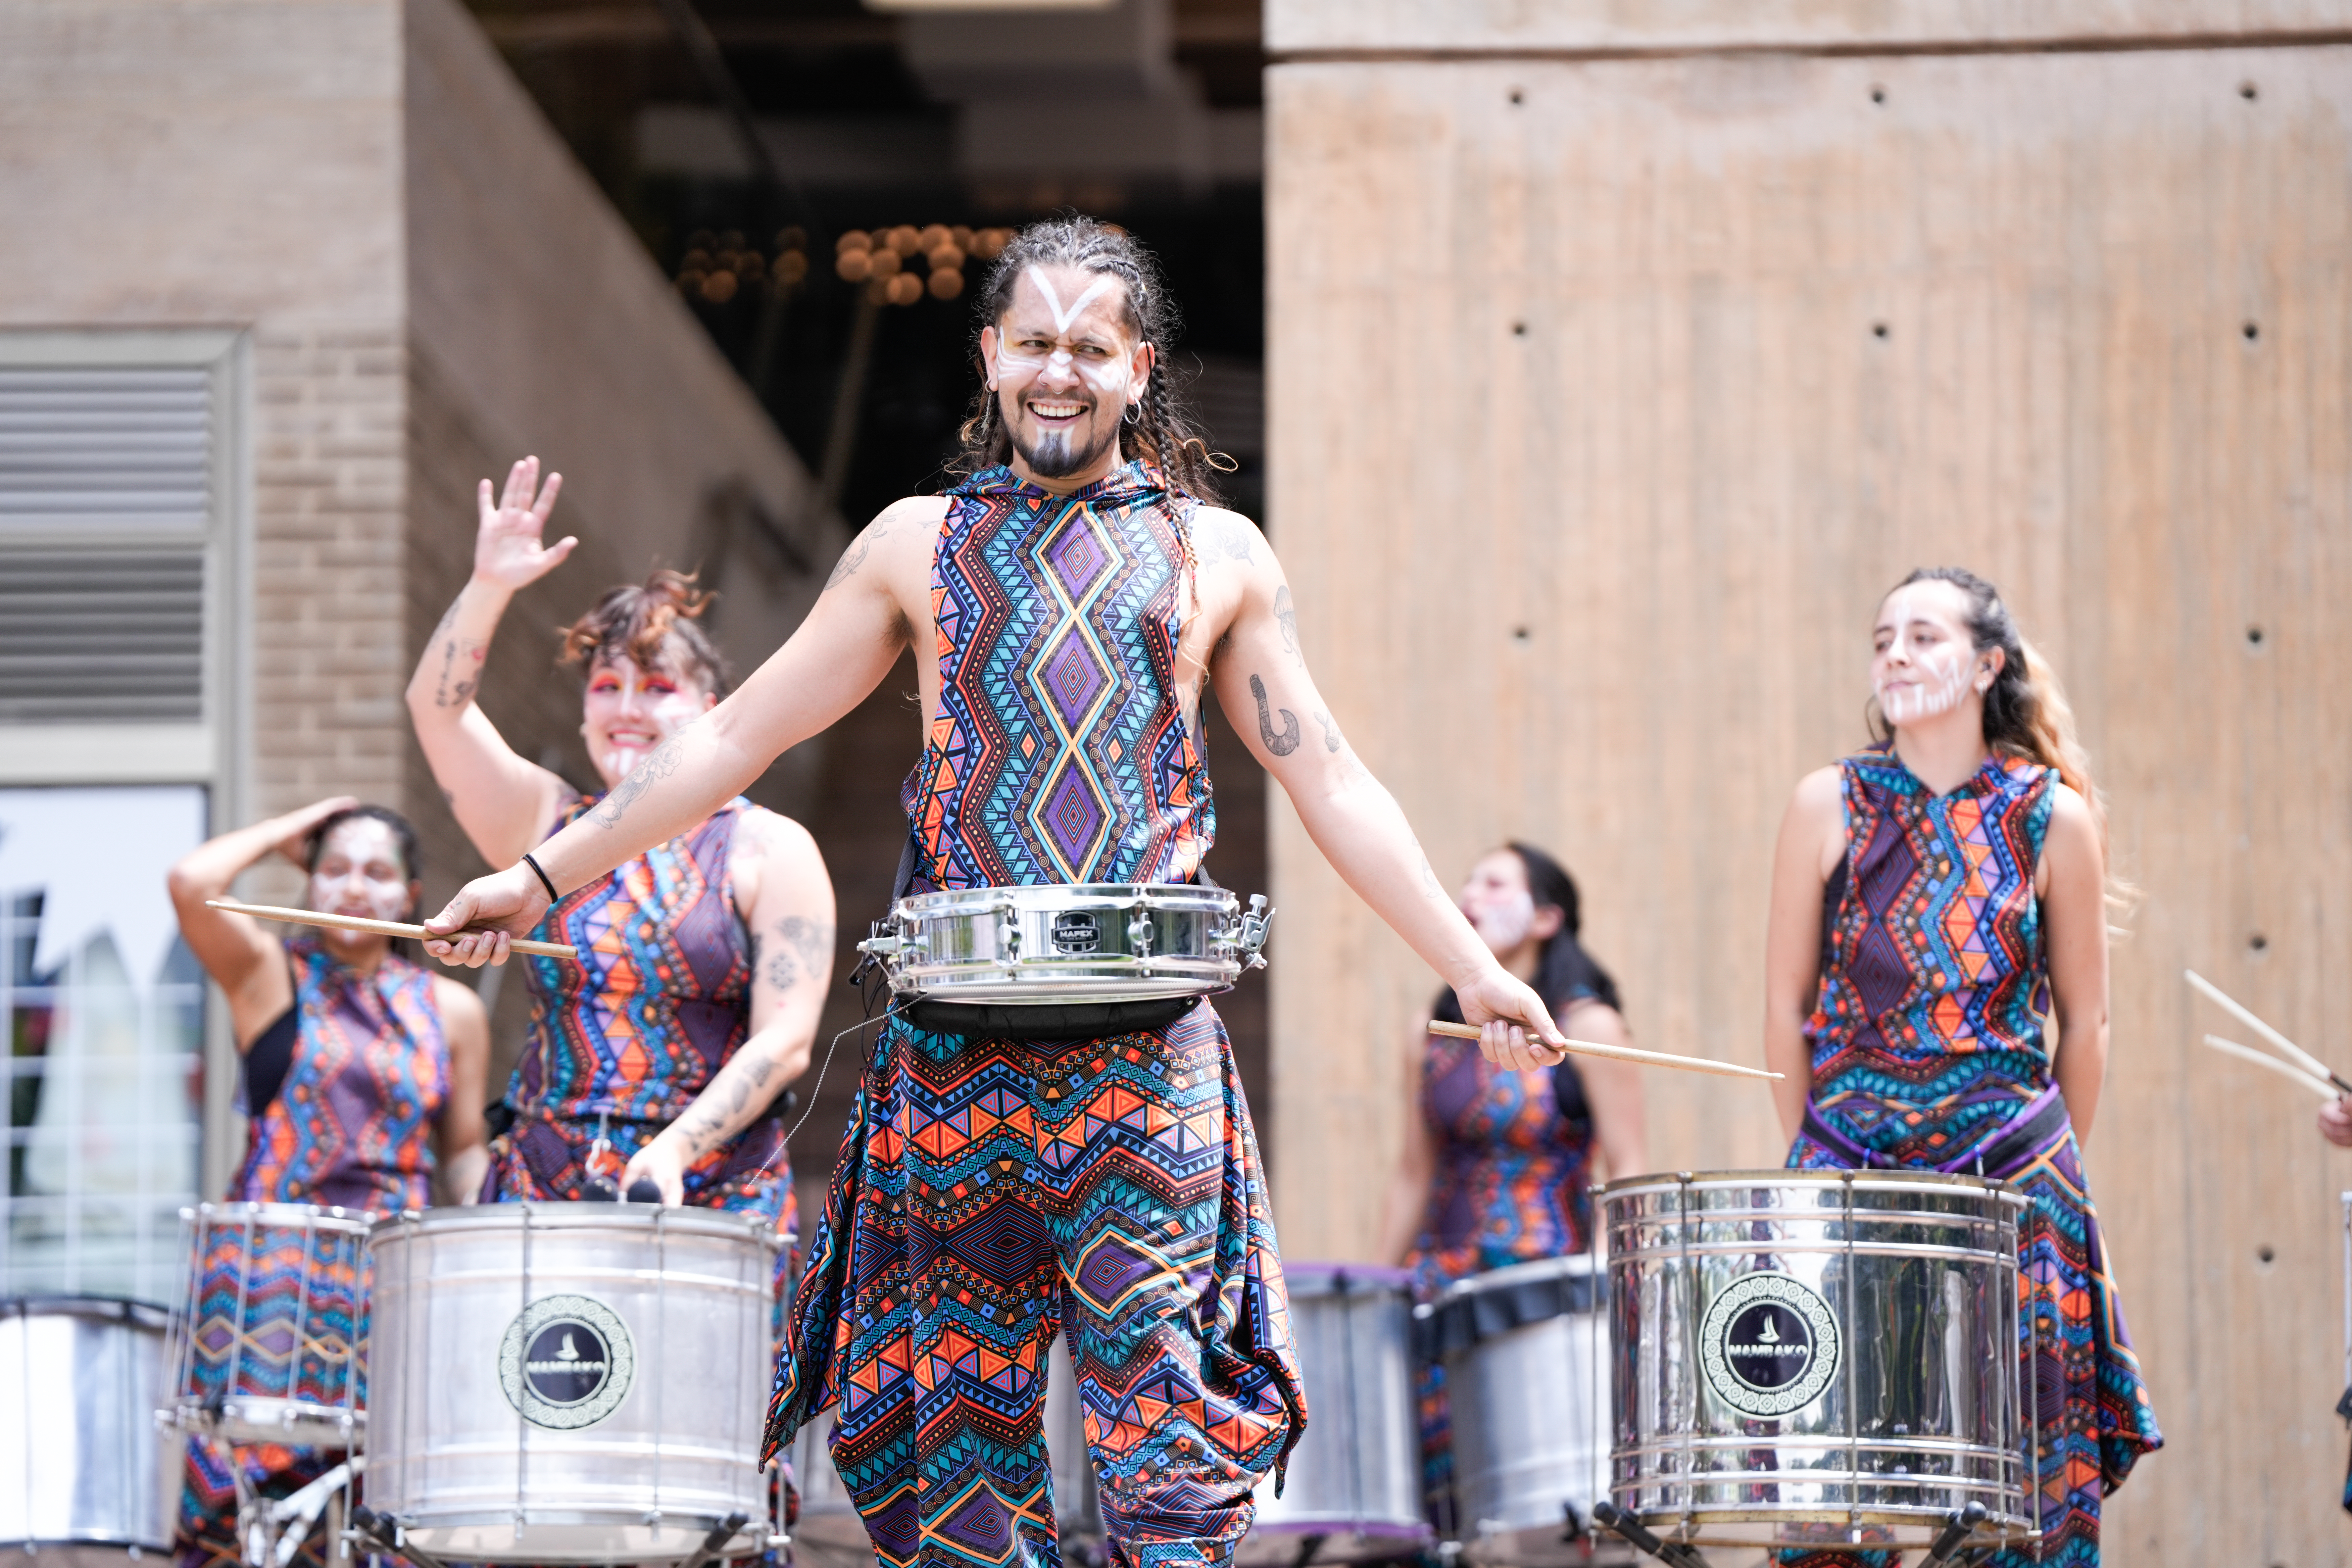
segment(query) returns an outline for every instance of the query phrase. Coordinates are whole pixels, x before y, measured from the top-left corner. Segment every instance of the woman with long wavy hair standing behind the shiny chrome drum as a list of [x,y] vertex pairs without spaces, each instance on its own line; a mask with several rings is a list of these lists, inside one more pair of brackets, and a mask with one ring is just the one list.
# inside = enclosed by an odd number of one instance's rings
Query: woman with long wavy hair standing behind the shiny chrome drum
[[1764,1056],[1788,1074],[1788,1164],[2025,1187],[2042,1544],[1992,1563],[2096,1563],[2100,1500],[2164,1441],[2077,1147],[2107,1067],[2105,816],[1990,583],[1915,571],[1872,639],[1879,743],[1797,785],[1773,858]]

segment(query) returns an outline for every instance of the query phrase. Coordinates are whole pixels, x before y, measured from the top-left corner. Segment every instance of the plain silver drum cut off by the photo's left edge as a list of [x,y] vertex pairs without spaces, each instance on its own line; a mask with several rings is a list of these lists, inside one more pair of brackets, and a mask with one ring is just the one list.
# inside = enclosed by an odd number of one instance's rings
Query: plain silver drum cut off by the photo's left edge
[[167,1552],[183,1455],[155,1429],[165,1312],[99,1298],[0,1312],[0,1544],[47,1563]]

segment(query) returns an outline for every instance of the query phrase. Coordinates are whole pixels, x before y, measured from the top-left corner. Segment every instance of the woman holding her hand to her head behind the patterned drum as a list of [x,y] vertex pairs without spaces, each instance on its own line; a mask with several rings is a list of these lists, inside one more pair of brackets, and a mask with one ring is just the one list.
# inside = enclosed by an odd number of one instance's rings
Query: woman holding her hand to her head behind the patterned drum
[[[303,907],[414,919],[416,830],[397,811],[322,799],[198,846],[172,867],[179,929],[228,997],[249,1119],[233,1204],[339,1204],[397,1213],[482,1182],[482,1079],[489,1025],[473,990],[428,973],[386,936],[296,926],[205,907],[256,860],[282,853],[310,875]],[[183,1568],[226,1568],[238,1544],[238,1479],[285,1497],[334,1460],[315,1448],[188,1439],[181,1488]],[[301,1559],[325,1563],[310,1530]]]

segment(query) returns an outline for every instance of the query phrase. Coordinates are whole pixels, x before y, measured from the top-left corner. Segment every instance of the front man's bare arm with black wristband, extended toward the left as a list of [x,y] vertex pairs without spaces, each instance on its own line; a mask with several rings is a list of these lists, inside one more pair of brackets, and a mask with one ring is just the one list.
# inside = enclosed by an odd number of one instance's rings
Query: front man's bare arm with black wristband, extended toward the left
[[894,557],[922,550],[929,571],[931,529],[908,524],[936,524],[938,510],[936,498],[898,501],[866,524],[807,621],[750,679],[647,752],[593,811],[532,851],[536,872],[517,863],[459,889],[426,929],[461,936],[428,940],[426,952],[445,964],[503,964],[508,938],[536,926],[555,896],[694,830],[781,752],[866,701],[908,644],[896,585],[903,564]]

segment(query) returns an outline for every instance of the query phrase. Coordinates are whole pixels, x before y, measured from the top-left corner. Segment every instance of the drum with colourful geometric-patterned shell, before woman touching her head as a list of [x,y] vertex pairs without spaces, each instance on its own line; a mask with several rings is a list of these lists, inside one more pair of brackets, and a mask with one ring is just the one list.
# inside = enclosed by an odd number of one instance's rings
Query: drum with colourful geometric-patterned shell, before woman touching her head
[[230,1443],[350,1446],[367,1420],[367,1225],[313,1204],[181,1211],[174,1425]]

